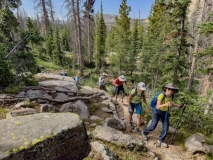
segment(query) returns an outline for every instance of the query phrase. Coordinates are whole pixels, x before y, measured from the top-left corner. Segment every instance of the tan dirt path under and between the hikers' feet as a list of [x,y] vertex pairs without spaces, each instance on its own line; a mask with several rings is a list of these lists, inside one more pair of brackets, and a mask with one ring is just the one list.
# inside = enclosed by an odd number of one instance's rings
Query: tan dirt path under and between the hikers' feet
[[[124,98],[124,103],[122,103],[121,98],[118,97],[118,103],[123,107],[125,120],[128,121],[128,103],[127,97]],[[150,110],[151,111],[151,110]],[[143,117],[142,117],[143,119]],[[133,114],[133,121],[136,125],[137,115]],[[146,128],[147,124],[140,127],[140,131]],[[136,134],[134,131],[130,135],[143,139],[142,135]],[[171,143],[171,135],[168,135],[165,142],[168,144],[168,148],[157,147],[158,136],[160,135],[159,131],[152,131],[148,135],[148,141],[145,141],[146,146],[154,152],[160,160],[204,160],[205,157],[202,155],[191,155],[189,152],[185,151],[183,147]],[[168,158],[170,157],[170,158]]]

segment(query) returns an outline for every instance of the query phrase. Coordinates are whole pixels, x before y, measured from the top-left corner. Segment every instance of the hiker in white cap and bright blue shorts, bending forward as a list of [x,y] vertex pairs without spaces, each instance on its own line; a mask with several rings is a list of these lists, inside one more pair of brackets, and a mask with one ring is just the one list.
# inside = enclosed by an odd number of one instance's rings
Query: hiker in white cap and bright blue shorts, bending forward
[[141,124],[141,113],[142,113],[142,103],[141,100],[143,99],[144,103],[146,104],[146,110],[149,111],[146,96],[145,96],[145,84],[143,82],[138,83],[137,87],[133,88],[128,97],[128,104],[129,104],[129,124],[132,129],[134,129],[134,125],[132,123],[132,115],[134,110],[137,113],[137,128],[135,130],[136,133],[141,134],[139,130],[139,126]]

